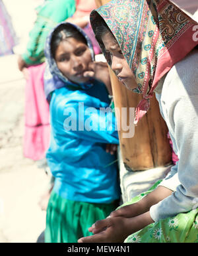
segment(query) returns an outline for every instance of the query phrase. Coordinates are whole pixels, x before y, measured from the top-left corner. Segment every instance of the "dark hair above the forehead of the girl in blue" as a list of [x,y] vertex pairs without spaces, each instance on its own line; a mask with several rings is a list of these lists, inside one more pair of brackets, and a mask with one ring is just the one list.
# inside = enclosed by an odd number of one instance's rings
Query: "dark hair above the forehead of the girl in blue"
[[87,45],[86,38],[84,35],[78,31],[76,27],[69,23],[61,24],[57,29],[53,31],[51,36],[51,55],[55,58],[55,51],[59,46],[59,43],[65,40],[66,38],[73,37],[80,42],[83,42]]

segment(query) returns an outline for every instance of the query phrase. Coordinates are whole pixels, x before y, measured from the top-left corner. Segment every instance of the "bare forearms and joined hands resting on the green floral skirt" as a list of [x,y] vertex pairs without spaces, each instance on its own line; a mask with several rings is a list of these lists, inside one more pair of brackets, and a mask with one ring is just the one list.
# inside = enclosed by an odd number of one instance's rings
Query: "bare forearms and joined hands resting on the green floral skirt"
[[154,222],[150,217],[150,206],[171,194],[171,190],[159,186],[139,202],[123,206],[112,212],[110,218],[97,221],[88,229],[94,235],[82,237],[79,239],[79,243],[123,242],[131,233],[135,233]]

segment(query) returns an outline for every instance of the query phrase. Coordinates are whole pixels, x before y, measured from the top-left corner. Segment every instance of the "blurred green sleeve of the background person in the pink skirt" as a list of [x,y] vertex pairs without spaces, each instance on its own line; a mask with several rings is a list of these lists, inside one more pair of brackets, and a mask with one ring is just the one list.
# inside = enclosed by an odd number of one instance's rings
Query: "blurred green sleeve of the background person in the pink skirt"
[[45,61],[44,46],[48,33],[55,25],[65,21],[75,13],[75,0],[49,0],[37,9],[37,18],[23,60],[29,64],[40,64]]

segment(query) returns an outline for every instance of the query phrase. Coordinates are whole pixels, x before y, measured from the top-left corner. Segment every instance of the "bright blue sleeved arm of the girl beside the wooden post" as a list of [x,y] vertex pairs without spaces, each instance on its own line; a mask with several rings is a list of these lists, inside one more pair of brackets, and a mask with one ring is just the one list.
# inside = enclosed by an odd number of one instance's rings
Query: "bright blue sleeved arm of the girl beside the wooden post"
[[[74,92],[75,100],[69,99],[64,107],[57,106],[57,117],[61,120],[61,127],[65,136],[71,135],[90,141],[90,143],[111,143],[119,144],[116,117],[110,107],[104,103],[103,109],[92,107],[101,105],[100,99],[87,96],[82,92]],[[90,97],[88,100],[87,97]],[[67,99],[68,100],[68,99]],[[88,102],[87,102],[88,101]],[[60,105],[63,103],[60,102]],[[101,105],[102,106],[102,105]],[[108,107],[108,109],[106,109]],[[106,111],[107,110],[107,111]]]

